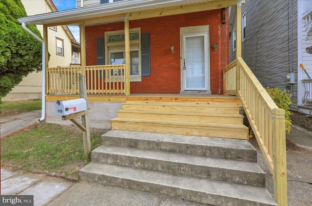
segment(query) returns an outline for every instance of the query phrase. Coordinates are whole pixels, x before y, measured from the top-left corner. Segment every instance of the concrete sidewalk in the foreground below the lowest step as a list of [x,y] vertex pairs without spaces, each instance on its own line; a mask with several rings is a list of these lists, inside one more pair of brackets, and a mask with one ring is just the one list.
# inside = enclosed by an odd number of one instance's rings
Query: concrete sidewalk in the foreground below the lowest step
[[34,206],[204,206],[159,194],[1,169],[1,195],[34,195]]

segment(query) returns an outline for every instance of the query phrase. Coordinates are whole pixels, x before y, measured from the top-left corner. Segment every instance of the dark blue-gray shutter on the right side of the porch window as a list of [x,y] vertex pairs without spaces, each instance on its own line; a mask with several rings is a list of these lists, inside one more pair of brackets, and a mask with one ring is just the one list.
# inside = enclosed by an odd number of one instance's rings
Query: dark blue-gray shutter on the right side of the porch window
[[151,75],[150,33],[141,34],[142,76]]

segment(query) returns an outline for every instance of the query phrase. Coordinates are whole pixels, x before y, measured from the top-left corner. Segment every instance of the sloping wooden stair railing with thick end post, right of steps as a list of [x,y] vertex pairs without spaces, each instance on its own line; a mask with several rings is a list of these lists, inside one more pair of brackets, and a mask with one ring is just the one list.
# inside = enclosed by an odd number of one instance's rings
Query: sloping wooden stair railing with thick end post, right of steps
[[224,94],[240,98],[273,175],[274,199],[279,206],[287,206],[285,111],[276,106],[241,57],[223,71]]

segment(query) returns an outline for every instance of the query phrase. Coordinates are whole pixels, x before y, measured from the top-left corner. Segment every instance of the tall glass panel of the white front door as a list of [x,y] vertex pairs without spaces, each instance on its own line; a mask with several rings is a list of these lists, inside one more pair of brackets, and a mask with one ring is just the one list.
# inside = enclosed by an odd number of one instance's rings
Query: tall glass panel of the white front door
[[205,88],[205,38],[185,37],[185,88]]

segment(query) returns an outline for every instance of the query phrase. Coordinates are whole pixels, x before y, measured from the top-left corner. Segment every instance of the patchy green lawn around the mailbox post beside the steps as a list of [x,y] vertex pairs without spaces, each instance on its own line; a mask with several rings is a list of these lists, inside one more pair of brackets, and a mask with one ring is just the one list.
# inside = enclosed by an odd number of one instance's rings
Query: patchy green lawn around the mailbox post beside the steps
[[[101,144],[106,129],[90,129],[91,149]],[[74,125],[40,123],[1,139],[1,168],[42,170],[78,175],[84,161],[81,131]]]

